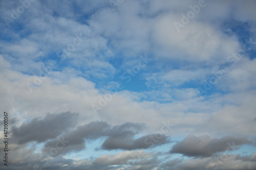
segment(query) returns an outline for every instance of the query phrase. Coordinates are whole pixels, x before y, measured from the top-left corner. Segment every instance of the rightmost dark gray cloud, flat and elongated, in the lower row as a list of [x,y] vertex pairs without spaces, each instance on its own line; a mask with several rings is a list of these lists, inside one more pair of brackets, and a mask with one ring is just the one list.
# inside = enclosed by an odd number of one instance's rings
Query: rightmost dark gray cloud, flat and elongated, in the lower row
[[246,137],[225,136],[211,139],[209,136],[189,135],[176,143],[170,153],[179,153],[185,156],[210,157],[215,153],[226,150],[237,150],[240,145],[250,143]]

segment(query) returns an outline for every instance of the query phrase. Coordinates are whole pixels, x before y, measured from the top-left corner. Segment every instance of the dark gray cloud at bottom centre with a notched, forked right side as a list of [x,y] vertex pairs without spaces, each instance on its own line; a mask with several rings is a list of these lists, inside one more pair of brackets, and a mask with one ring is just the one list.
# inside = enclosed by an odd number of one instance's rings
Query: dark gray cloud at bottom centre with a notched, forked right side
[[136,150],[147,149],[153,145],[164,144],[167,136],[162,134],[149,134],[134,139],[134,136],[144,128],[143,124],[126,123],[115,126],[110,130],[108,138],[103,142],[102,149],[114,150]]

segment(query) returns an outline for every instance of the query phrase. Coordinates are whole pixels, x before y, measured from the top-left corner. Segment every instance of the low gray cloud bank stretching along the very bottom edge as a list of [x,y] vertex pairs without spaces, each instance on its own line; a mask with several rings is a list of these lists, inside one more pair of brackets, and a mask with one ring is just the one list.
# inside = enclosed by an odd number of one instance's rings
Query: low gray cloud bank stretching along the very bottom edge
[[[205,158],[183,159],[177,158],[169,161],[159,159],[163,153],[146,153],[143,151],[126,151],[115,155],[102,155],[94,159],[72,160],[62,156],[56,156],[47,160],[33,160],[28,163],[16,162],[9,169],[33,169],[37,165],[38,169],[255,169],[255,153],[248,156],[240,155],[215,155]],[[37,156],[38,157],[38,156]],[[170,157],[167,157],[170,158]],[[127,166],[130,165],[130,166]],[[4,169],[4,165],[0,165]]]

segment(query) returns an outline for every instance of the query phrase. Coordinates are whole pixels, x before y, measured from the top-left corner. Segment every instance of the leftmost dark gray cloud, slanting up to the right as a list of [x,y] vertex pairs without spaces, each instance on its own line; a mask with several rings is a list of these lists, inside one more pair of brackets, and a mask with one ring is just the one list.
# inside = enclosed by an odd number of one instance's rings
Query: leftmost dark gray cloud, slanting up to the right
[[56,138],[62,132],[76,123],[76,113],[48,114],[45,118],[36,117],[27,124],[12,129],[12,137],[16,143],[23,144],[29,141],[43,142]]

